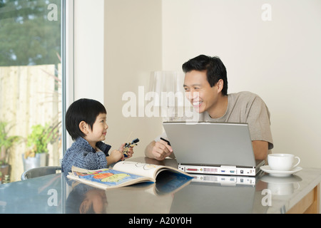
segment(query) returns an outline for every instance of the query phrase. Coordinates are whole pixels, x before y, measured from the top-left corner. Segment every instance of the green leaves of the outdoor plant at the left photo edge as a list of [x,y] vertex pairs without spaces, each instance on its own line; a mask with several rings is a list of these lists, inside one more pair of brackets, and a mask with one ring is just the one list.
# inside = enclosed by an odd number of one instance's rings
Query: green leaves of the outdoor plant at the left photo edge
[[18,135],[9,136],[10,129],[11,127],[8,127],[8,123],[0,121],[0,165],[8,164],[11,147],[21,140]]

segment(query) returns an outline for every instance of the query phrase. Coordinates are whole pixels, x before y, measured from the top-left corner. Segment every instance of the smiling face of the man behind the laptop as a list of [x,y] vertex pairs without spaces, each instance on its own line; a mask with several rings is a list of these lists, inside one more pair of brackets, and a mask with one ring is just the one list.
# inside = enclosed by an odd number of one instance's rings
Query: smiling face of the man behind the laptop
[[210,87],[206,71],[190,71],[185,74],[184,80],[185,95],[193,105],[195,111],[203,113],[206,110],[210,113],[215,109],[218,100],[218,86]]

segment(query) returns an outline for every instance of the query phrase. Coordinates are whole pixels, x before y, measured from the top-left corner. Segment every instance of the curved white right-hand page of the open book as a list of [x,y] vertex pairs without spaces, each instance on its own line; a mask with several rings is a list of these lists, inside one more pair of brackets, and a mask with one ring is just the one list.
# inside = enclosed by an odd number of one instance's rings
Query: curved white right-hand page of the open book
[[128,172],[134,175],[151,177],[155,179],[156,172],[164,167],[163,165],[146,164],[142,162],[122,161],[113,166],[113,170]]

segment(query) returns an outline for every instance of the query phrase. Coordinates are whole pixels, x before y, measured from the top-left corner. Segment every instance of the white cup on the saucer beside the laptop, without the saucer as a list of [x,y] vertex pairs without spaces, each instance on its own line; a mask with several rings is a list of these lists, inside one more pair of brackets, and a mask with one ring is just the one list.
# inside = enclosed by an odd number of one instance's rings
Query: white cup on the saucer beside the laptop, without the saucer
[[[295,159],[298,161],[293,165]],[[300,157],[291,154],[270,154],[267,155],[267,163],[271,170],[289,171],[299,165]]]

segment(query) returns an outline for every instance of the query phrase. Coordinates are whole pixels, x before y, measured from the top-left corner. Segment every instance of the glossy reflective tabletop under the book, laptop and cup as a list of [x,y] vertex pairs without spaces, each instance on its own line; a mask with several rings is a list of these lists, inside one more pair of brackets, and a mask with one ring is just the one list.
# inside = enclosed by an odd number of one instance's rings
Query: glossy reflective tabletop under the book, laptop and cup
[[[177,167],[169,159],[134,161]],[[320,170],[303,169],[289,177],[260,172],[256,177],[193,175],[189,180],[165,171],[156,183],[101,190],[61,173],[0,185],[0,213],[282,213],[307,195],[320,175]],[[265,197],[272,200],[270,206]]]

